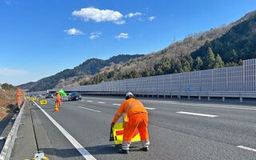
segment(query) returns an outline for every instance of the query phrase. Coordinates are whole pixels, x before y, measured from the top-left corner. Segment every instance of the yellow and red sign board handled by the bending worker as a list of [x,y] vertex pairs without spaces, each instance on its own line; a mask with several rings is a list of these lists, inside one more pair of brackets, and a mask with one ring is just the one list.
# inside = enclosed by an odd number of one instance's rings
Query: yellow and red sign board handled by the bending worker
[[[122,123],[117,123],[113,127],[113,135],[114,135],[114,144],[122,144],[123,137],[123,128]],[[131,139],[131,142],[141,141],[141,136],[138,133],[138,130],[135,130],[134,137]]]

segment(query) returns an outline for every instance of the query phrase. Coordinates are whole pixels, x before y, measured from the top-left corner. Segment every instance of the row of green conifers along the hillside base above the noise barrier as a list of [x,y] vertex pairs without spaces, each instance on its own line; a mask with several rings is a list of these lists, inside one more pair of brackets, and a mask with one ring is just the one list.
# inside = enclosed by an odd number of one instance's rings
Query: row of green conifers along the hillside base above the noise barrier
[[92,85],[113,80],[176,74],[195,70],[210,70],[229,66],[242,66],[242,59],[238,60],[238,54],[236,54],[235,50],[232,50],[230,53],[230,61],[225,63],[219,54],[215,55],[213,50],[208,47],[206,54],[202,57],[192,58],[190,55],[181,55],[179,58],[162,58],[160,63],[155,64],[141,73],[138,70],[129,70],[122,76],[118,76],[119,70],[114,69],[110,72],[96,74],[93,78],[82,82],[80,85]]

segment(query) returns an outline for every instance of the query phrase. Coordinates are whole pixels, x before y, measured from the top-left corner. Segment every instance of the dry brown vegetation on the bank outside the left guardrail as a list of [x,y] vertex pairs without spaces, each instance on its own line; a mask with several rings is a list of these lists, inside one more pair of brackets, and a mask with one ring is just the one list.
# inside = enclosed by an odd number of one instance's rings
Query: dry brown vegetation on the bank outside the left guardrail
[[6,117],[10,111],[14,109],[14,105],[17,104],[16,91],[14,90],[2,90],[0,88],[0,120]]

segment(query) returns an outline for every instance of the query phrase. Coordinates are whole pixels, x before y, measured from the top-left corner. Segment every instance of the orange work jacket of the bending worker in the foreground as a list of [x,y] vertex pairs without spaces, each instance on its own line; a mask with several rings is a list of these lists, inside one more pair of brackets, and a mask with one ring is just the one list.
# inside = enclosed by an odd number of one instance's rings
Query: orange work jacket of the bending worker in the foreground
[[146,113],[147,111],[145,107],[142,105],[142,102],[138,101],[137,99],[130,98],[127,99],[122,105],[119,107],[117,113],[114,115],[113,122],[118,122],[118,119],[122,117],[122,114],[126,112],[128,109],[128,116],[132,114],[139,114],[139,113]]

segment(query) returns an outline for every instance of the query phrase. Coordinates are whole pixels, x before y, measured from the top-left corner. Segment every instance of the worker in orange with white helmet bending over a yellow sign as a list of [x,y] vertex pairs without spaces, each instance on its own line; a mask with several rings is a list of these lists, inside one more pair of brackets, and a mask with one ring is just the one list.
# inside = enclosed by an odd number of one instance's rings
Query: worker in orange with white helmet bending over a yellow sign
[[129,153],[130,142],[136,129],[138,129],[141,136],[141,143],[143,146],[142,150],[149,151],[150,141],[147,131],[147,111],[142,105],[142,102],[134,99],[134,94],[131,92],[126,93],[126,101],[122,102],[122,105],[114,115],[113,122],[111,123],[112,128],[114,127],[114,124],[118,122],[118,119],[122,116],[122,114],[126,112],[129,117],[129,122],[127,127],[123,130],[122,154]]

